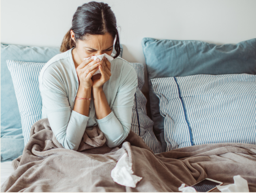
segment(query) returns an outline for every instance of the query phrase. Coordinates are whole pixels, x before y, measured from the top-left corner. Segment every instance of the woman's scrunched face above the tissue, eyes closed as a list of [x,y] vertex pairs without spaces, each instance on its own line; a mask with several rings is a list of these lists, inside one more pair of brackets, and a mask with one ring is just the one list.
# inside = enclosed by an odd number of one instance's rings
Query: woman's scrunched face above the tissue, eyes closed
[[[74,32],[72,30],[71,38],[74,40]],[[109,33],[104,35],[86,35],[84,40],[76,42],[76,52],[81,61],[84,61],[83,58],[89,58],[90,56],[111,55],[113,44],[114,39]]]

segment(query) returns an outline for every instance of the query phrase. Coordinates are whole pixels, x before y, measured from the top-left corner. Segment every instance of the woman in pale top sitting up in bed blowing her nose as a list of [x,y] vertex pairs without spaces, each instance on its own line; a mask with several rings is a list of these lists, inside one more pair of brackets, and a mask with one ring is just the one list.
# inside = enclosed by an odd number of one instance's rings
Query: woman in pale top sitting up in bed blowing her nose
[[[114,45],[114,40],[115,45]],[[89,58],[111,55],[111,62]],[[135,69],[120,54],[116,17],[108,4],[89,2],[78,7],[65,35],[61,54],[39,75],[42,117],[64,148],[78,150],[85,129],[98,125],[109,147],[127,137],[137,86]],[[100,73],[93,75],[97,70]],[[91,99],[91,100],[90,100]]]

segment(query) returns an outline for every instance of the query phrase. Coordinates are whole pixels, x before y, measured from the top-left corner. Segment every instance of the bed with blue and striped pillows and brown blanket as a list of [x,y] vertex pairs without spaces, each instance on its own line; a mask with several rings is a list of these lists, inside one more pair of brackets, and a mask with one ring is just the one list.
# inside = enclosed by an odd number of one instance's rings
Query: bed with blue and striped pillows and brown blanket
[[[130,63],[138,87],[127,139],[109,148],[95,128],[72,151],[40,114],[38,74],[58,48],[1,44],[1,192],[178,192],[204,178],[233,184],[235,175],[256,191],[256,39],[144,38],[142,47],[147,67]],[[142,178],[134,188],[111,178],[125,153]]]

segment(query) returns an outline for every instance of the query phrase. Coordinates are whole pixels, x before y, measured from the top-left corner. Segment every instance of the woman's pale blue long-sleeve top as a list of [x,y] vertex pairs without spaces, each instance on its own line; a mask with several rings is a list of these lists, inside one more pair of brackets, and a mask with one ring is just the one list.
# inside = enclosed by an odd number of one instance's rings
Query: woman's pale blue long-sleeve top
[[89,116],[85,116],[73,110],[79,84],[71,50],[51,58],[40,71],[42,118],[48,118],[51,130],[66,149],[78,150],[85,129],[95,125],[104,133],[106,144],[116,147],[130,132],[136,71],[120,57],[112,60],[112,75],[102,87],[112,112],[96,119],[92,95]]

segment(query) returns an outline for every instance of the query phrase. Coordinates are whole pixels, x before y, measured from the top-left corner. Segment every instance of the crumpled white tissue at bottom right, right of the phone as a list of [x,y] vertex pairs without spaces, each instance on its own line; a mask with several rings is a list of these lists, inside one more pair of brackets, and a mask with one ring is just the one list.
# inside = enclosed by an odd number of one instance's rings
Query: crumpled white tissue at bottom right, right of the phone
[[234,176],[234,184],[217,185],[221,192],[249,192],[248,182],[240,175]]

